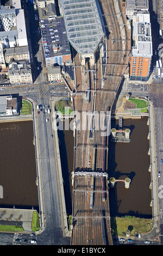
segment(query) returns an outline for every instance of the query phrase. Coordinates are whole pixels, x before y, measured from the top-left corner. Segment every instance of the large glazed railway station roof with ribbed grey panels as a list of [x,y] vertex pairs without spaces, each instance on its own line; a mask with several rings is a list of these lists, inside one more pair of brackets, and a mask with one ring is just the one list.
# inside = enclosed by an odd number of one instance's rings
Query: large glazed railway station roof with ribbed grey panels
[[103,36],[95,0],[60,0],[67,36],[80,54],[94,54]]

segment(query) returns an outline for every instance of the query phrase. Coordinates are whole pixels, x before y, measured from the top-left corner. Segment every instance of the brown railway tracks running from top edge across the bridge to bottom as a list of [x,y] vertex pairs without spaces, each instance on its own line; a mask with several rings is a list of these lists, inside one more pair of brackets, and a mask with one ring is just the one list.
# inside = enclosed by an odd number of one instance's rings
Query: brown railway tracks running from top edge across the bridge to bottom
[[[106,28],[106,65],[105,65],[105,81],[102,86],[103,70],[102,59],[99,49],[96,52],[95,57],[95,78],[96,82],[93,82],[93,72],[87,73],[84,77],[82,73],[82,66],[80,62],[79,54],[73,50],[73,59],[76,75],[76,91],[78,95],[74,96],[75,110],[79,113],[83,111],[90,111],[97,113],[103,111],[106,114],[107,109],[111,109],[114,103],[117,90],[120,86],[124,71],[128,66],[128,54],[130,50],[130,34],[127,26],[124,26],[123,31],[126,35],[126,40],[121,35],[122,25],[126,23],[126,17],[123,14],[123,8],[120,1],[118,1],[118,7],[120,11],[117,11],[114,0],[101,0],[99,1],[102,9],[102,15],[104,17],[104,23]],[[119,13],[122,13],[119,17]],[[112,15],[115,14],[115,15]],[[115,26],[109,26],[110,24]],[[122,57],[126,56],[126,57]],[[116,63],[115,65],[113,63]],[[91,67],[86,66],[87,70]],[[87,83],[87,75],[90,76],[90,103],[87,103],[85,94]],[[80,94],[81,93],[81,94]],[[95,116],[94,116],[95,120]],[[84,123],[84,118],[80,114],[80,120],[76,118],[76,124],[80,121],[80,124]],[[95,125],[95,123],[93,123]],[[93,126],[95,128],[95,126]],[[108,153],[105,147],[108,147],[108,138],[102,136],[101,131],[93,130],[93,137],[90,138],[89,126],[86,126],[86,130],[76,130],[75,132],[75,144],[76,148],[74,153],[74,171],[77,173],[81,170],[86,172],[91,169],[92,165],[88,166],[88,161],[93,153],[93,145],[96,145],[96,163],[95,172],[107,171],[108,164],[106,162],[105,170],[103,159],[108,159]],[[88,145],[85,147],[76,147],[77,145]],[[98,148],[98,145],[102,145]],[[90,161],[90,162],[91,162]],[[91,162],[92,163],[92,162]],[[101,176],[96,176],[93,192],[93,208],[90,209],[90,196],[91,196],[91,177],[90,175],[80,176],[76,174],[74,178],[74,188],[78,188],[73,191],[73,229],[71,237],[71,245],[104,245],[106,237],[108,243],[112,244],[112,238],[110,233],[110,219],[109,219],[109,199],[108,194],[105,193],[105,200],[103,200],[104,186]],[[108,185],[105,184],[105,190],[108,190]],[[101,191],[96,193],[95,191]],[[101,217],[101,213],[103,216]],[[102,221],[103,218],[103,221]],[[105,226],[105,230],[104,230]],[[103,233],[103,232],[104,233]],[[104,239],[105,238],[105,239]]]

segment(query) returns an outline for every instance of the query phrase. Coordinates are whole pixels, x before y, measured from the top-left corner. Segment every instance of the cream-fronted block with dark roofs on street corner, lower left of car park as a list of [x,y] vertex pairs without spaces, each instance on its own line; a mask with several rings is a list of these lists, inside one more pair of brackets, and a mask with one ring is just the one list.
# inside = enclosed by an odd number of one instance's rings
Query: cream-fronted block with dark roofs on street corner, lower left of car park
[[11,84],[32,84],[32,72],[29,59],[9,63],[9,79]]

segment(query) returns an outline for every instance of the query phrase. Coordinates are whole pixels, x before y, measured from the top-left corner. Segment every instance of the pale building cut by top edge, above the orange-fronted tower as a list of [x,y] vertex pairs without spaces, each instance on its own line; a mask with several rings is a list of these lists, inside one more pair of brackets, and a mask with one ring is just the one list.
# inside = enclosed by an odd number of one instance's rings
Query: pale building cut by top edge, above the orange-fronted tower
[[143,11],[144,13],[148,11],[148,0],[127,0],[126,1],[126,16],[128,19],[132,19],[134,14],[139,11]]

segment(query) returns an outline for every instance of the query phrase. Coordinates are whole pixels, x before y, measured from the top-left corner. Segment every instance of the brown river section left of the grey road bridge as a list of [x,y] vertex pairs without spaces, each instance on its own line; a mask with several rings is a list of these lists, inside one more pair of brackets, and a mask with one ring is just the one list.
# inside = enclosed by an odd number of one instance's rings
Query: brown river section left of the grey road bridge
[[37,209],[33,121],[0,123],[0,207]]

